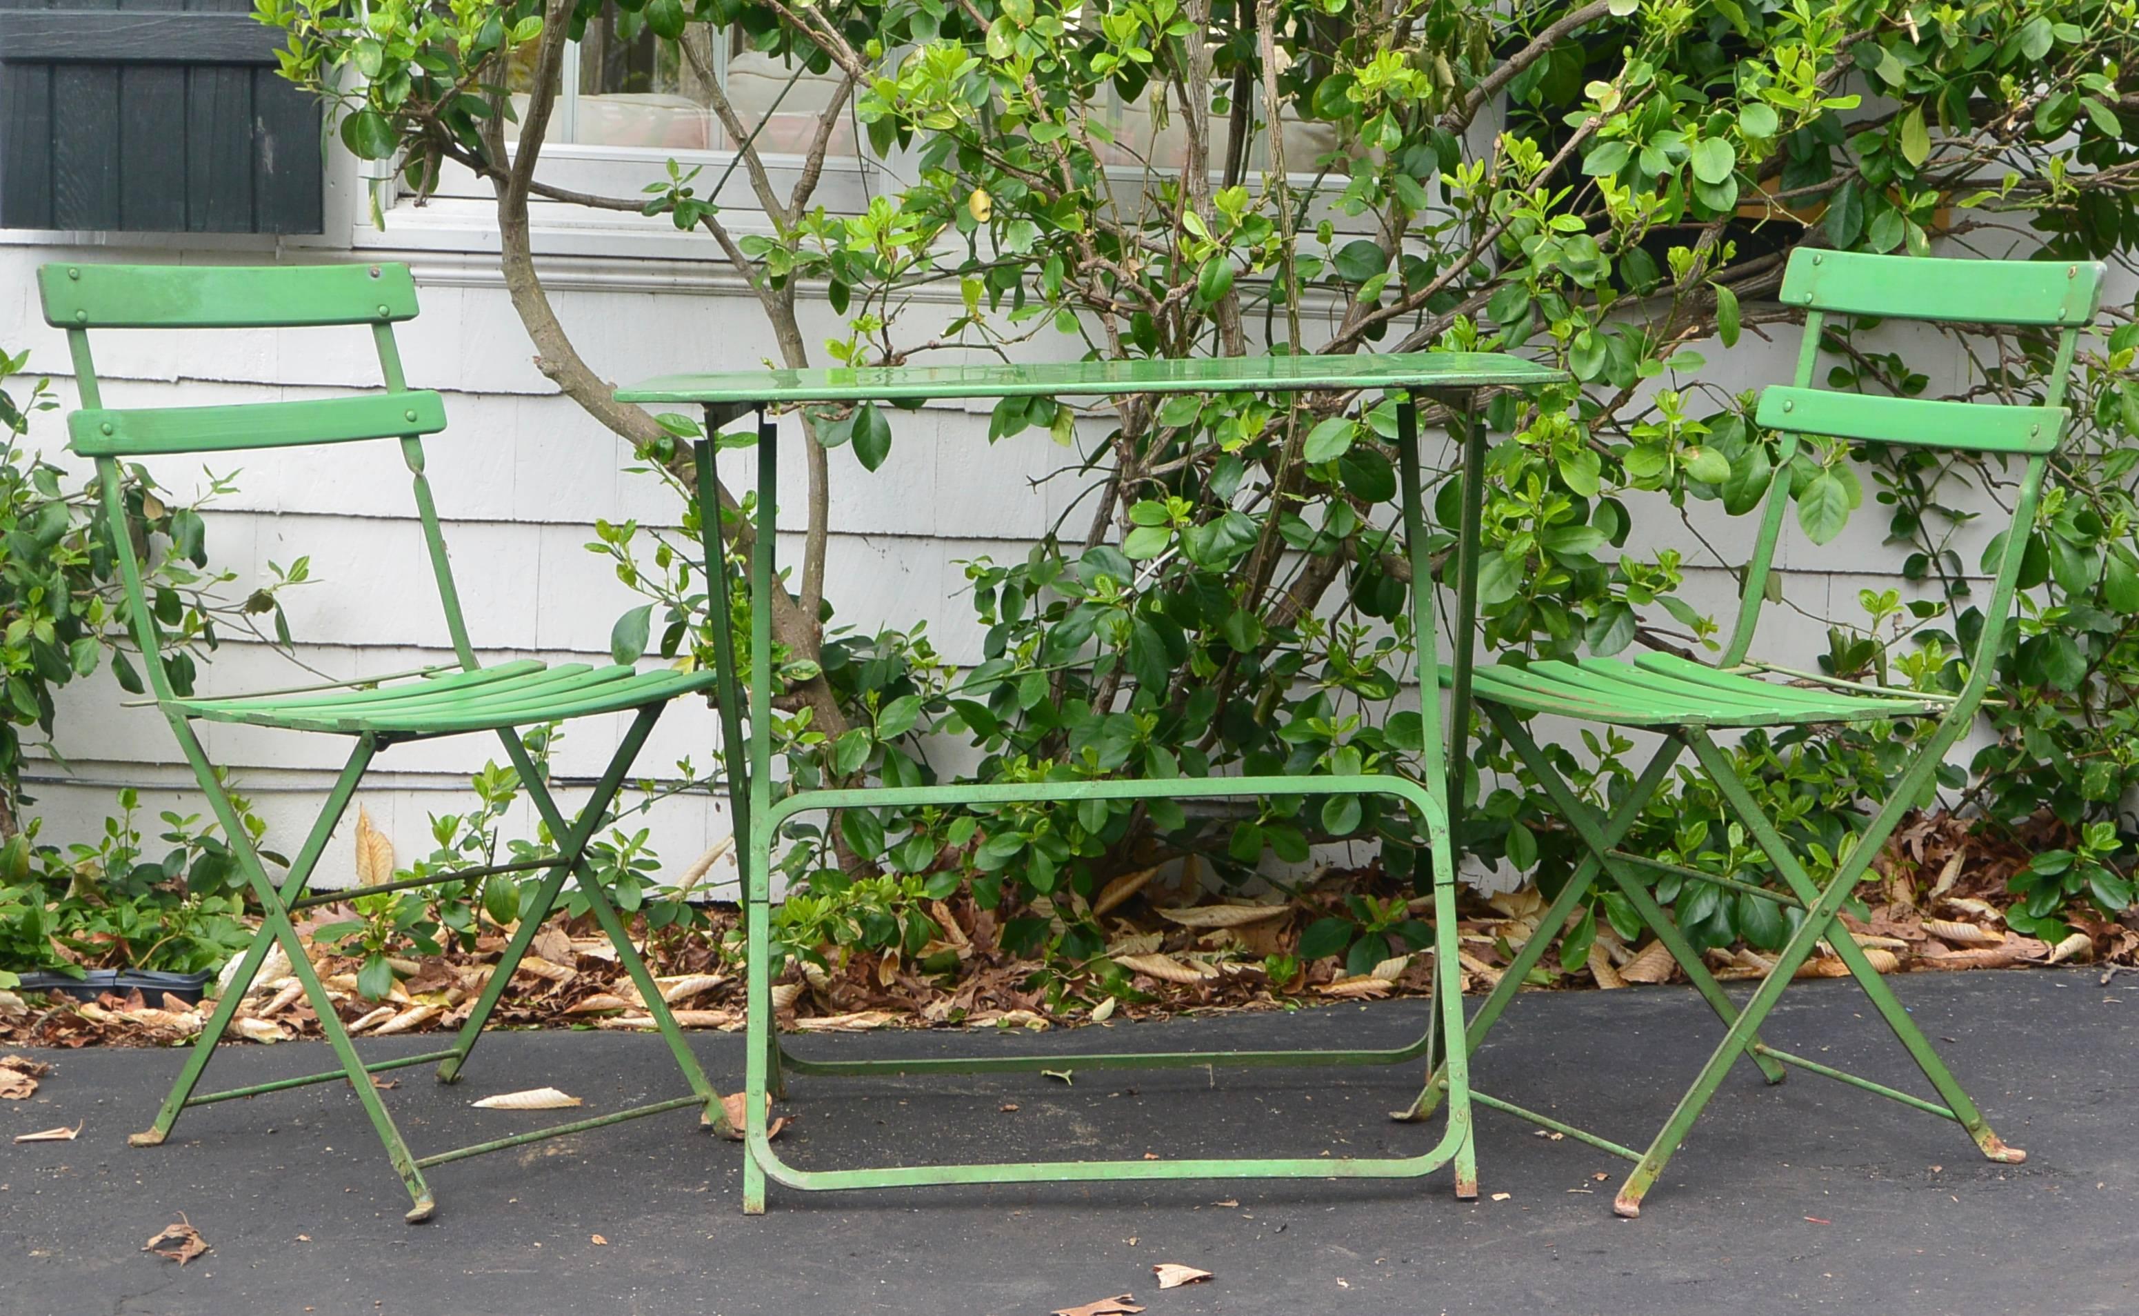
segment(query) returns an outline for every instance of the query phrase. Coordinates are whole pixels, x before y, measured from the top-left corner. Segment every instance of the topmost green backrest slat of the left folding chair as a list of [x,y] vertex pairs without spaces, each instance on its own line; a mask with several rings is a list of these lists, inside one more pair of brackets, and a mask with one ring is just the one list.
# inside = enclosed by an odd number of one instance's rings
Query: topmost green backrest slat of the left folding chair
[[259,330],[415,319],[406,265],[43,265],[60,330]]

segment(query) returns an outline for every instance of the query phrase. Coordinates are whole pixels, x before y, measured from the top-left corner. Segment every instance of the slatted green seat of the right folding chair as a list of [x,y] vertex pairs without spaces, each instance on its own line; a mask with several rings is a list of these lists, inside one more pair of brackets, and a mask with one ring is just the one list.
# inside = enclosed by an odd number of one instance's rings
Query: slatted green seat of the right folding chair
[[[1448,674],[1442,674],[1448,685]],[[1626,728],[1767,728],[1822,721],[1938,717],[1944,700],[1807,689],[1709,668],[1668,653],[1626,659],[1536,661],[1478,668],[1480,700],[1532,713],[1564,713]]]

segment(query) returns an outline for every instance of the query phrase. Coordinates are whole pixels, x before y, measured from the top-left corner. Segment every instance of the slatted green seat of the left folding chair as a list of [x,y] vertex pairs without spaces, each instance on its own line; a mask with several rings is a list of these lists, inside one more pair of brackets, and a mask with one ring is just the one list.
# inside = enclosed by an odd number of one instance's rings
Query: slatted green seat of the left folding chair
[[167,700],[165,708],[182,717],[244,721],[295,732],[447,736],[646,708],[706,689],[714,680],[714,672],[637,672],[622,665],[593,668],[588,663],[552,668],[522,659],[372,689],[184,698]]

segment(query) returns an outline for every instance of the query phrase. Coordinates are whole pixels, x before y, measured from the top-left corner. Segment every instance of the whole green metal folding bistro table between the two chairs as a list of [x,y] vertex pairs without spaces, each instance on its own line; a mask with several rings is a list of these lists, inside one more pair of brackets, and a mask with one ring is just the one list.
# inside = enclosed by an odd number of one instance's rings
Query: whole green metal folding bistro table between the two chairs
[[[781,794],[772,781],[772,621],[768,599],[776,588],[774,509],[779,505],[779,434],[772,407],[804,402],[920,402],[930,398],[1059,398],[1142,394],[1296,394],[1380,389],[1397,398],[1397,466],[1403,492],[1403,533],[1412,561],[1412,623],[1418,638],[1418,672],[1427,698],[1440,678],[1433,580],[1427,554],[1425,494],[1418,462],[1418,396],[1444,402],[1463,415],[1463,511],[1459,526],[1457,644],[1450,687],[1452,725],[1469,725],[1472,631],[1476,623],[1476,546],[1484,473],[1484,422],[1480,389],[1538,389],[1564,383],[1559,370],[1497,353],[1401,353],[1373,357],[1221,357],[1191,362],[1076,362],[1046,366],[896,366],[838,370],[744,370],[721,374],[670,374],[618,389],[620,402],[702,407],[706,439],[695,445],[699,505],[714,507],[712,434],[744,415],[757,415],[757,526],[749,563],[751,597],[751,691],[749,768],[727,762],[727,792],[734,809],[736,852],[742,856],[744,922],[749,946],[749,1061],[744,1066],[744,1179],[742,1207],[766,1207],[766,1179],[800,1190],[907,1188],[926,1183],[1048,1183],[1074,1179],[1403,1179],[1455,1164],[1459,1198],[1478,1196],[1478,1153],[1472,1136],[1469,1066],[1463,1038],[1463,997],[1457,976],[1455,841],[1450,835],[1448,753],[1437,717],[1425,719],[1422,777],[1196,777],[1138,781],[1037,781],[1010,785],[915,785],[868,790],[798,790]],[[699,518],[706,571],[725,578],[725,546],[719,518]],[[708,588],[714,616],[714,661],[719,665],[721,736],[725,747],[744,743],[742,698],[727,591]],[[781,824],[804,811],[881,809],[915,805],[1007,805],[1033,800],[1142,800],[1142,798],[1241,798],[1241,796],[1328,796],[1384,794],[1403,800],[1427,832],[1433,856],[1433,1008],[1425,1036],[1388,1051],[1217,1051],[1217,1053],[1112,1053],[1050,1057],[930,1057],[930,1059],[811,1059],[787,1053],[772,1019],[772,841]],[[1442,1046],[1455,1038],[1457,1046]],[[1425,1057],[1429,1074],[1440,1059],[1446,1083],[1448,1123],[1442,1138],[1420,1156],[1399,1158],[1217,1158],[1217,1160],[1076,1160],[1031,1164],[909,1164],[817,1170],[779,1158],[766,1136],[766,1104],[783,1087],[783,1074],[973,1074],[1033,1072],[1063,1063],[1082,1068],[1204,1068],[1204,1066],[1378,1066]]]

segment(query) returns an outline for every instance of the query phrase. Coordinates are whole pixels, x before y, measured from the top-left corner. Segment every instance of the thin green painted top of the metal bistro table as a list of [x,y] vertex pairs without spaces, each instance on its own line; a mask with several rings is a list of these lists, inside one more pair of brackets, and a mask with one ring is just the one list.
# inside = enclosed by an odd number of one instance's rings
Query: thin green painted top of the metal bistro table
[[1489,351],[1386,355],[1050,362],[1040,366],[845,366],[661,374],[616,389],[618,402],[896,402],[1076,394],[1292,392],[1354,387],[1540,387],[1566,370]]

